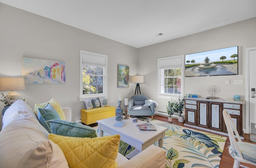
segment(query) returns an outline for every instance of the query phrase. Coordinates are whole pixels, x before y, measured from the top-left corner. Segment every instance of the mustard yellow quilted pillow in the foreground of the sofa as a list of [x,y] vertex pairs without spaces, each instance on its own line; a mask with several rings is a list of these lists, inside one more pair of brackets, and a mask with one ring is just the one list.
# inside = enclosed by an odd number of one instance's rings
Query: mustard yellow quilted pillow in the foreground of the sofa
[[49,134],[65,155],[70,168],[116,168],[120,135],[76,138]]

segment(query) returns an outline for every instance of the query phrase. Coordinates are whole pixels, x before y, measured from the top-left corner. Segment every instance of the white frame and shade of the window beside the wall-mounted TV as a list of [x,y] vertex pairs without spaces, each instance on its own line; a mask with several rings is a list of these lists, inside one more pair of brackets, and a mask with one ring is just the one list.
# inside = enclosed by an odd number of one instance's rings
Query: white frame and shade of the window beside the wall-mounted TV
[[[163,64],[164,63],[164,64]],[[167,98],[184,96],[184,55],[179,56],[169,56],[164,58],[158,58],[158,98]],[[181,68],[181,92],[180,94],[168,94],[161,93],[161,69],[170,69],[170,68]]]

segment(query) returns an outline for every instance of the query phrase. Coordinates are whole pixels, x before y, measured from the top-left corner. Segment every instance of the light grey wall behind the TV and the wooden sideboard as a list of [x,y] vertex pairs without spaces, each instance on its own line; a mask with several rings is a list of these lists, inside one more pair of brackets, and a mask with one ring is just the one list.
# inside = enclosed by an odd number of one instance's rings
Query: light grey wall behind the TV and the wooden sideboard
[[[159,106],[156,110],[166,112],[168,99],[158,98],[157,96],[156,79],[158,58],[238,46],[239,75],[185,77],[184,94],[192,93],[202,97],[211,96],[207,92],[207,87],[216,85],[220,88],[220,92],[216,96],[220,98],[233,98],[234,94],[238,94],[241,95],[242,100],[245,100],[245,49],[256,46],[255,28],[256,18],[252,18],[190,36],[139,48],[138,62],[140,62],[140,66],[138,66],[138,72],[144,75],[144,83],[140,84],[142,94],[146,94],[158,102]],[[226,80],[230,80],[229,85],[225,84]],[[243,84],[234,85],[234,80],[243,80]]]

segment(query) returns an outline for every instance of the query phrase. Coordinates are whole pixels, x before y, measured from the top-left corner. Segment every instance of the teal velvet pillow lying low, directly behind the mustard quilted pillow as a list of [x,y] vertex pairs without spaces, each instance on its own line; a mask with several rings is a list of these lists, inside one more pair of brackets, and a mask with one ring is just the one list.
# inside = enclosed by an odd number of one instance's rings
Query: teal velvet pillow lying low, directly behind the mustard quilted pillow
[[80,138],[95,138],[97,137],[96,130],[90,126],[80,124],[78,122],[70,122],[64,120],[48,120],[52,134],[80,137]]

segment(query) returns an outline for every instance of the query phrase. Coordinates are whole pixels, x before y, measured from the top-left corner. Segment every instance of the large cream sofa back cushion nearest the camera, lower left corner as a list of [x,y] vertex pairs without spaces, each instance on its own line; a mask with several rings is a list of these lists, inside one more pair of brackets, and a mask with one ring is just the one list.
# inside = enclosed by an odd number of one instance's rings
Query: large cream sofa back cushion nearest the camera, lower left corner
[[16,111],[15,115],[0,132],[1,167],[68,168],[62,150],[48,140],[38,120],[30,112]]

